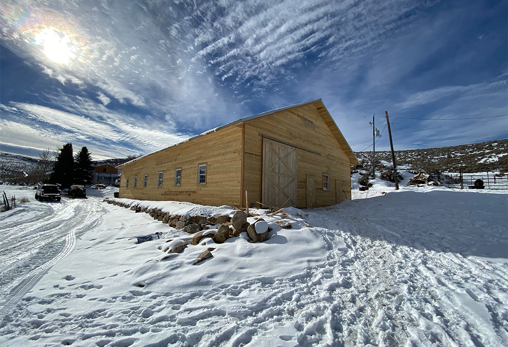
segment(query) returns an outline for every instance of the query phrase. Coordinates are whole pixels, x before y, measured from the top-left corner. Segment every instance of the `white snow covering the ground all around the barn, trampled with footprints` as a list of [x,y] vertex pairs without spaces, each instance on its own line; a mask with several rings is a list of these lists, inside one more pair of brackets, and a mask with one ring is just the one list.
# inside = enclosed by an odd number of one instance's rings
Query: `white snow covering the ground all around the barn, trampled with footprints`
[[114,188],[58,203],[1,186],[31,201],[0,214],[0,345],[504,346],[506,192],[372,183],[340,205],[288,209],[292,229],[260,216],[264,243],[207,238],[169,257],[188,234],[102,202]]

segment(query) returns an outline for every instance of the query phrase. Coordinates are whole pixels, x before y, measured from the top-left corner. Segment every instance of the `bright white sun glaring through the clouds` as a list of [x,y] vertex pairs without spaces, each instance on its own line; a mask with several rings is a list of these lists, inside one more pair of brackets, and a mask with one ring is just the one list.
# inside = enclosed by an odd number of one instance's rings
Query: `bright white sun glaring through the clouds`
[[68,63],[74,56],[69,37],[50,28],[44,29],[35,37],[35,44],[42,45],[44,54],[57,63]]

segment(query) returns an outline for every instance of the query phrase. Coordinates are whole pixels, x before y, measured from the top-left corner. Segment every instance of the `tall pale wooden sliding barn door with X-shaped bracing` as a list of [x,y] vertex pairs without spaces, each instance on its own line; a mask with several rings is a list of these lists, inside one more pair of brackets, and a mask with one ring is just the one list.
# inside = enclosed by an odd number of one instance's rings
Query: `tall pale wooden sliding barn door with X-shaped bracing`
[[296,206],[296,149],[263,138],[263,203]]

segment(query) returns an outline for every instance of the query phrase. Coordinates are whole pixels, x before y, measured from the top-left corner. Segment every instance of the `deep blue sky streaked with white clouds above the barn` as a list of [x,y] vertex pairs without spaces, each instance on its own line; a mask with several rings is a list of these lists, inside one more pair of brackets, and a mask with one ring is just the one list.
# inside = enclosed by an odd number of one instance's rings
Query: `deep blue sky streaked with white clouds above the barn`
[[[0,151],[146,154],[322,98],[354,151],[508,137],[507,2],[0,3]],[[418,118],[418,119],[406,119]],[[367,148],[371,150],[371,148]]]

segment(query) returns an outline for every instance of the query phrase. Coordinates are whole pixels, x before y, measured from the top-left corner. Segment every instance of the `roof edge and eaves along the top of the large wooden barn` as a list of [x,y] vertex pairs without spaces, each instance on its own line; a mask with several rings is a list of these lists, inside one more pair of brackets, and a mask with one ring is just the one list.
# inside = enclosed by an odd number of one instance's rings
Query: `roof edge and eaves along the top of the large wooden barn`
[[[331,124],[333,124],[335,126],[335,130],[334,129],[330,129],[332,131],[332,134],[334,135],[335,139],[337,140],[337,142],[341,145],[341,147],[345,144],[345,147],[346,148],[343,148],[344,152],[346,153],[347,157],[350,158],[351,160],[351,163],[352,164],[355,164],[355,163],[358,163],[358,159],[357,157],[355,156],[355,153],[353,152],[353,150],[351,149],[350,145],[347,143],[347,141],[345,140],[344,138],[344,135],[342,135],[342,132],[340,131],[340,129],[338,128],[337,124],[335,123],[335,121],[333,120],[332,116],[330,115],[330,112],[328,112],[328,109],[326,108],[325,104],[323,103],[323,100],[321,98],[319,99],[315,99],[315,100],[310,100],[310,101],[305,101],[305,102],[300,102],[300,103],[295,103],[294,105],[290,105],[290,106],[285,106],[285,107],[282,107],[282,108],[278,108],[278,109],[274,109],[274,110],[270,110],[270,111],[266,111],[266,112],[262,112],[262,113],[259,113],[257,115],[252,115],[252,116],[248,116],[248,117],[245,117],[245,118],[240,118],[234,122],[231,122],[231,123],[228,123],[228,124],[225,124],[225,125],[221,125],[221,126],[218,126],[216,128],[213,128],[213,129],[210,129],[210,130],[207,130],[199,135],[196,135],[196,136],[193,136],[193,137],[189,137],[187,138],[187,140],[185,141],[182,141],[182,142],[179,142],[177,144],[174,144],[174,145],[171,145],[171,146],[168,146],[168,147],[165,147],[165,148],[162,148],[162,149],[159,149],[159,150],[156,150],[154,152],[151,152],[151,153],[148,153],[148,154],[145,154],[139,158],[136,158],[136,159],[133,159],[131,161],[128,161],[126,163],[123,163],[121,165],[118,165],[116,167],[121,167],[123,165],[126,165],[126,164],[130,164],[134,161],[137,161],[138,159],[141,159],[141,158],[144,158],[144,157],[147,157],[151,154],[154,154],[154,153],[158,153],[158,152],[161,152],[161,151],[164,151],[168,148],[171,148],[171,147],[175,147],[175,146],[178,146],[182,143],[185,143],[185,142],[188,142],[190,140],[194,140],[195,138],[198,138],[198,137],[201,137],[201,136],[204,136],[208,133],[211,133],[211,132],[215,132],[217,130],[220,130],[220,129],[224,129],[226,127],[229,127],[229,126],[232,126],[234,124],[238,124],[238,123],[245,123],[245,122],[248,122],[248,121],[251,121],[251,120],[254,120],[254,119],[257,119],[257,118],[261,118],[261,117],[264,117],[264,116],[268,116],[268,115],[271,115],[271,114],[274,114],[276,112],[280,112],[280,111],[284,111],[284,110],[289,110],[289,109],[293,109],[295,107],[300,107],[300,106],[303,106],[303,105],[307,105],[308,103],[314,103],[314,102],[318,102],[320,101],[321,104],[323,105],[326,113],[328,114],[328,116],[330,117],[330,120],[331,120]],[[318,111],[319,112],[319,111]],[[320,113],[321,114],[321,113]],[[330,128],[330,124],[327,124],[327,126]],[[338,133],[337,133],[338,132]]]

